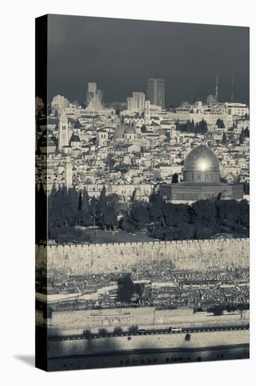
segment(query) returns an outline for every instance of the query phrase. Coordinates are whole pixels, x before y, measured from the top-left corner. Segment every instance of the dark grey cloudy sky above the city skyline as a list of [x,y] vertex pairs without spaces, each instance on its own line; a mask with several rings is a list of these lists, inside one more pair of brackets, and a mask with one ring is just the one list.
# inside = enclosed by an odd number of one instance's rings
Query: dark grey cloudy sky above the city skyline
[[148,78],[166,81],[166,106],[215,93],[249,102],[249,29],[174,22],[49,15],[49,98],[85,100],[97,81],[104,101],[125,102]]

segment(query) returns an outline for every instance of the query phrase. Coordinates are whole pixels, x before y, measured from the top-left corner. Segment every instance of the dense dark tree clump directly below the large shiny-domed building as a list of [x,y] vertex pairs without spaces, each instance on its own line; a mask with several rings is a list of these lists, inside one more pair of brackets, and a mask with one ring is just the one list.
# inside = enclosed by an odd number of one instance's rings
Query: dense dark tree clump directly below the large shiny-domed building
[[149,203],[135,202],[120,226],[128,232],[148,229],[161,240],[209,239],[218,233],[248,237],[249,205],[220,199],[171,204],[152,194]]

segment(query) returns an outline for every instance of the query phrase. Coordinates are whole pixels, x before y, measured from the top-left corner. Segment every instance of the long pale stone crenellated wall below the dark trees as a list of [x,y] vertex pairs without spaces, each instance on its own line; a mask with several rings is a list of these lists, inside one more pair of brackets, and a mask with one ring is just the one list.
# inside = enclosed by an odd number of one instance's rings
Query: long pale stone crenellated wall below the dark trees
[[249,239],[36,246],[36,267],[68,274],[131,272],[168,262],[173,269],[249,266]]

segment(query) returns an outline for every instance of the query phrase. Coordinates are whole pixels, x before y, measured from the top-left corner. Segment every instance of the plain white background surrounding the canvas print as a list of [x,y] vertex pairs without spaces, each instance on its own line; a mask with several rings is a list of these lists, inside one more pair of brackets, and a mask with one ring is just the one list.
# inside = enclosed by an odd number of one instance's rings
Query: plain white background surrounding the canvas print
[[[2,385],[255,384],[255,15],[254,1],[5,1],[1,3]],[[44,373],[34,368],[34,18],[45,13],[250,27],[251,359]],[[221,58],[220,58],[221,60]]]

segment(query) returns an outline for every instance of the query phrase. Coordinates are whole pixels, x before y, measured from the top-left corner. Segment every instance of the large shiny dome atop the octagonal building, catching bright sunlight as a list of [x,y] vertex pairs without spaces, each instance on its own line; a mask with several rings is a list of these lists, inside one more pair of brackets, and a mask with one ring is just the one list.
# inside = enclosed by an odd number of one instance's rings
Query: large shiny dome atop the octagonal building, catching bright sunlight
[[218,158],[204,145],[191,150],[185,159],[184,171],[220,171]]

